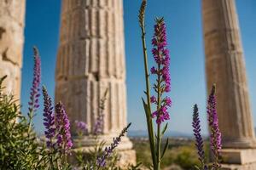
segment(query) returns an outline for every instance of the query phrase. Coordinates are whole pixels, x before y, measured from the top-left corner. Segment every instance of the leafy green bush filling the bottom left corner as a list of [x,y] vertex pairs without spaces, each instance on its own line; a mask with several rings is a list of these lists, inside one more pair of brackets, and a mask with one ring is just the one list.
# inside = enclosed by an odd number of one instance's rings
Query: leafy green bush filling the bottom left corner
[[45,150],[39,147],[35,133],[28,132],[26,117],[20,114],[12,94],[0,84],[0,169],[43,169]]

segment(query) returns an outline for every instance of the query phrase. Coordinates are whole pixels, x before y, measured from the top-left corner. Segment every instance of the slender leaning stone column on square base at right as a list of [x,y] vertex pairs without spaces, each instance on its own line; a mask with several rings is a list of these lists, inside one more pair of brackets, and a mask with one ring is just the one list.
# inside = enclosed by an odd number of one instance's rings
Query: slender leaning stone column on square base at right
[[212,83],[217,85],[225,162],[256,162],[253,117],[235,0],[202,0],[202,15],[207,88],[209,90]]

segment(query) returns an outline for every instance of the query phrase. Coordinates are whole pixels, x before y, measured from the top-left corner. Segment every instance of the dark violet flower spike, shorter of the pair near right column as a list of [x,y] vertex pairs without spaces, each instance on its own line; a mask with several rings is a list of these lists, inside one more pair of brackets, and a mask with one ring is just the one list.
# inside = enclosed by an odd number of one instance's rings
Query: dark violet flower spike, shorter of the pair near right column
[[197,153],[199,156],[198,159],[199,161],[201,161],[201,169],[206,169],[207,167],[205,166],[205,151],[203,139],[201,137],[201,126],[197,105],[194,106],[192,127],[194,128],[193,132],[195,135],[195,146],[197,148]]

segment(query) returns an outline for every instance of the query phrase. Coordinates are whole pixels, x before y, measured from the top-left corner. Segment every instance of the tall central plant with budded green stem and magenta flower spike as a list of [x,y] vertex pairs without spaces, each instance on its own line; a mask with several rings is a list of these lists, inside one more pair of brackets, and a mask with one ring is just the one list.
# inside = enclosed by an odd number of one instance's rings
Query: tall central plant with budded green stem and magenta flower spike
[[[143,59],[144,70],[146,79],[146,91],[147,99],[143,99],[143,106],[148,125],[148,138],[150,143],[150,150],[152,156],[153,167],[155,170],[160,169],[160,163],[165,155],[166,148],[168,147],[168,139],[163,148],[161,148],[161,140],[166,132],[167,125],[161,127],[163,122],[170,119],[168,107],[171,107],[172,100],[165,95],[171,91],[171,77],[170,77],[170,54],[166,45],[166,24],[163,18],[156,18],[154,25],[154,36],[152,38],[152,54],[156,66],[150,69],[151,75],[156,76],[156,81],[153,84],[154,93],[156,97],[150,95],[149,73],[148,73],[148,54],[146,48],[146,31],[145,31],[145,9],[147,1],[143,0],[141,8],[139,10],[139,24],[142,31],[143,42]],[[152,112],[153,105],[156,107],[156,111]],[[157,132],[154,135],[153,118],[156,118]]]

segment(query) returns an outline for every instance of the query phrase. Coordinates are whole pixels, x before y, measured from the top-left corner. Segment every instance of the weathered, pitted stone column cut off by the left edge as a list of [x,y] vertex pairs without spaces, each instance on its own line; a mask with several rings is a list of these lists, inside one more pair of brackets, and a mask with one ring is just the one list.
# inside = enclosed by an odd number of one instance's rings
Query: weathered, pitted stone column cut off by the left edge
[[0,1],[0,77],[6,92],[20,99],[25,0]]

